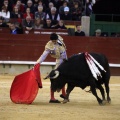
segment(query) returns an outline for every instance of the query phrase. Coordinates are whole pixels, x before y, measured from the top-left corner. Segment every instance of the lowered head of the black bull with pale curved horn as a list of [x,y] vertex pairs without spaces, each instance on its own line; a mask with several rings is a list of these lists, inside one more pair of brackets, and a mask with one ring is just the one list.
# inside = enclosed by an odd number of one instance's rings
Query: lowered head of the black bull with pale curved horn
[[50,74],[45,77],[44,79],[49,78],[51,81],[51,89],[55,92],[59,92],[62,87],[65,85],[65,83],[63,83],[63,80],[60,76],[60,72],[58,70],[52,70],[50,72]]

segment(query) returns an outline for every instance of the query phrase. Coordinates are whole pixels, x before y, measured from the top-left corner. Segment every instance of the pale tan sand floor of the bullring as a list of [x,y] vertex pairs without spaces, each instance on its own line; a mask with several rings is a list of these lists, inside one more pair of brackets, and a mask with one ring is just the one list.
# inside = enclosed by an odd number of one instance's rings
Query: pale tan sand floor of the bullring
[[[80,88],[72,91],[67,104],[49,103],[49,80],[42,80],[43,88],[31,105],[14,104],[9,97],[13,79],[14,76],[0,75],[0,120],[120,120],[120,76],[111,77],[112,101],[105,106],[99,106],[91,93]],[[62,101],[60,94],[55,96]]]

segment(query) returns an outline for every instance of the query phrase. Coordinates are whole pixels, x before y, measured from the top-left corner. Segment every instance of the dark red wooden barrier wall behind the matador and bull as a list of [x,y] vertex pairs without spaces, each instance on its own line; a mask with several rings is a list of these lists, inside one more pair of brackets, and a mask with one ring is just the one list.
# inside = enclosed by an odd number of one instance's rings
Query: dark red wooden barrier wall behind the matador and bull
[[[103,53],[109,63],[120,64],[120,38],[109,37],[78,37],[63,35],[67,46],[67,54],[81,52]],[[0,34],[0,61],[36,61],[44,51],[49,35],[34,34]],[[50,56],[45,61],[55,61]],[[118,69],[118,68],[117,68]],[[120,75],[120,69],[117,70]]]

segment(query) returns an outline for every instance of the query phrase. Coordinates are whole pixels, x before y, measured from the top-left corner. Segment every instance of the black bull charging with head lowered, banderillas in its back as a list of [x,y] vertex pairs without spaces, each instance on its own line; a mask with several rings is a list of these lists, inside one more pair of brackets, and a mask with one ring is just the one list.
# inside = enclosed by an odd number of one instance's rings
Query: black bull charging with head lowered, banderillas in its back
[[[102,78],[99,77],[96,80],[86,62],[84,53],[76,54],[70,57],[67,61],[63,62],[56,70],[52,70],[50,74],[46,78],[50,78],[51,81],[51,89],[53,91],[60,90],[67,83],[66,96],[64,99],[64,103],[69,101],[70,92],[74,89],[74,87],[80,87],[82,89],[90,86],[90,90],[92,94],[96,97],[98,103],[104,104],[105,91],[102,84],[105,85],[106,93],[107,93],[107,101],[110,103],[111,99],[109,97],[109,80],[110,80],[110,69],[107,58],[102,54],[90,53],[92,57],[103,68],[106,72],[99,69],[101,72]],[[98,88],[101,92],[102,99],[100,99],[97,95],[96,88]]]

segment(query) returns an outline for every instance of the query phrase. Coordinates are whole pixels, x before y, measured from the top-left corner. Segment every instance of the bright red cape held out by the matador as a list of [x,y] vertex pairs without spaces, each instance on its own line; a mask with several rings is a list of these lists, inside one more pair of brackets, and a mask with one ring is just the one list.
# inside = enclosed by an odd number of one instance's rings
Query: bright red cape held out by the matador
[[40,64],[27,72],[15,76],[10,89],[10,98],[14,103],[31,104],[42,88]]

